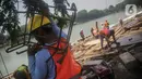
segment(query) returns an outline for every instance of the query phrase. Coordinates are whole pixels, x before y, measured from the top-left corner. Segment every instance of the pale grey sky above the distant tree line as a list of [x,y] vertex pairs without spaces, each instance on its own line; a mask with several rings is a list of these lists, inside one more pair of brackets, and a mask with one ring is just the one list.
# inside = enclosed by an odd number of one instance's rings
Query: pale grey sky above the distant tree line
[[[44,0],[45,2],[47,2],[49,5],[52,5],[52,0]],[[76,4],[78,11],[81,10],[87,10],[91,11],[93,9],[97,9],[97,10],[104,10],[106,8],[109,8],[109,5],[116,5],[120,2],[122,2],[123,0],[68,0],[69,3],[74,2]],[[19,5],[19,11],[24,11],[23,9],[23,3],[20,3]],[[25,24],[25,18],[24,15],[20,15],[20,22],[21,25]]]

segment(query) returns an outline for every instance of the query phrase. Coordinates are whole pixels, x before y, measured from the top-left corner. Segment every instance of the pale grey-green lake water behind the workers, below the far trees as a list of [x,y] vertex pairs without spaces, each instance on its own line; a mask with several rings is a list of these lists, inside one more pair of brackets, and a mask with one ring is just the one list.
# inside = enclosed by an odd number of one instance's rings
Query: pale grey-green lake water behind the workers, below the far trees
[[[98,22],[98,25],[100,26],[100,23],[103,23],[107,19],[109,22],[109,24],[111,25],[111,24],[118,23],[119,18],[125,18],[125,17],[127,17],[125,15],[125,12],[119,12],[119,13],[110,14],[110,15],[107,15],[107,16],[87,22],[87,23],[75,25],[72,29],[72,35],[71,35],[70,41],[75,42],[78,39],[81,38],[80,37],[81,29],[84,30],[85,36],[91,35],[91,28],[93,26],[95,26],[95,22]],[[68,29],[64,29],[64,31],[68,31]],[[23,49],[26,49],[26,48],[23,48]],[[23,49],[20,49],[20,50],[23,50]],[[2,54],[2,56],[4,58],[4,63],[7,65],[9,73],[14,71],[21,64],[27,65],[26,53],[16,55],[15,52],[5,53],[4,49],[0,49],[0,53]],[[7,75],[7,71],[5,71],[1,57],[0,57],[0,71],[2,73],[2,75]]]

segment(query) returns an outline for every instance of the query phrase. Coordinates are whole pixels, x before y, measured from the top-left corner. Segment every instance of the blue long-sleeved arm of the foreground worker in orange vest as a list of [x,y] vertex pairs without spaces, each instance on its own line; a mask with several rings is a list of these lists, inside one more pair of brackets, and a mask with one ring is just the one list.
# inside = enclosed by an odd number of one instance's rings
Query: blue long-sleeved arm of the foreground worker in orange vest
[[28,57],[29,73],[32,79],[54,79],[55,78],[55,63],[52,60],[46,61],[49,58],[50,54],[46,49],[37,52],[36,56]]

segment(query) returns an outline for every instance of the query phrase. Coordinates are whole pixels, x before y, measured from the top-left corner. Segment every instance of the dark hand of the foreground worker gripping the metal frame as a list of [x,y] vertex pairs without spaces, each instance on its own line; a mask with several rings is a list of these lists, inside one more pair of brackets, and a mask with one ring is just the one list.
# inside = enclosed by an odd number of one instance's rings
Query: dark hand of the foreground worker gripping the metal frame
[[34,45],[29,44],[28,49],[27,49],[27,54],[35,55],[40,49],[42,49],[42,47],[39,44],[34,44]]

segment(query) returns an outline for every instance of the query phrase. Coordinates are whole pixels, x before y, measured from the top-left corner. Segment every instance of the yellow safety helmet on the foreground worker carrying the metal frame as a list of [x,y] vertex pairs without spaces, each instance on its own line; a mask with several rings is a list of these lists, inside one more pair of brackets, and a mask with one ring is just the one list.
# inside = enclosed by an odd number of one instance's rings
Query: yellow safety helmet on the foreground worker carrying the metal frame
[[[42,18],[43,18],[43,23],[42,23]],[[33,19],[33,26],[31,26],[32,19]],[[49,18],[47,18],[46,16],[43,17],[43,15],[37,14],[34,16],[34,18],[33,17],[29,18],[29,22],[27,24],[27,29],[28,29],[28,31],[33,31],[33,30],[37,29],[38,27],[49,24],[49,23],[50,23]]]

